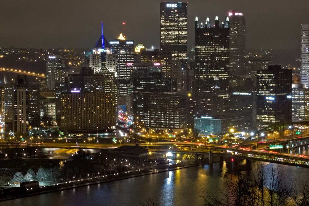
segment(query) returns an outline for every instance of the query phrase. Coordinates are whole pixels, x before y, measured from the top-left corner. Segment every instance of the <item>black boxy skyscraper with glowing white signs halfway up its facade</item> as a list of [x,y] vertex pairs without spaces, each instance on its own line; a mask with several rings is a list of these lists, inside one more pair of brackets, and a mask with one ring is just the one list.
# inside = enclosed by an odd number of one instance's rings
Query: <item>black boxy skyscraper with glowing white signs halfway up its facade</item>
[[270,65],[256,71],[256,124],[258,130],[273,124],[291,122],[292,70]]

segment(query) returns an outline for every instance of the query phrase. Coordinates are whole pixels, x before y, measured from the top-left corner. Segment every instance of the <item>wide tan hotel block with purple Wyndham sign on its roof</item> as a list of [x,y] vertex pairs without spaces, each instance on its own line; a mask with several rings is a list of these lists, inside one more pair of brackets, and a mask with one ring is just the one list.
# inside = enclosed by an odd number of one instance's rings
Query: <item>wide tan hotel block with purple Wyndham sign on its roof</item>
[[61,94],[60,128],[78,133],[112,127],[115,107],[115,93]]

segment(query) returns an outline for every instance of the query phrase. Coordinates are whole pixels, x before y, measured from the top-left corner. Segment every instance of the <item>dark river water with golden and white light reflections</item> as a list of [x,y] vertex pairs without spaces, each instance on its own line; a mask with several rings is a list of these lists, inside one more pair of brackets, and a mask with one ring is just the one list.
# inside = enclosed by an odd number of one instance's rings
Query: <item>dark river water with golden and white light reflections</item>
[[[269,163],[260,162],[266,167]],[[254,164],[253,164],[254,165]],[[279,165],[288,184],[301,186],[308,181],[309,169]],[[145,175],[109,183],[79,187],[42,195],[0,202],[0,205],[44,205],[44,206],[84,206],[84,205],[140,205],[139,201],[151,197],[158,199],[160,206],[200,205],[206,192],[218,193],[224,188],[225,164],[220,168],[214,163],[185,169]]]

